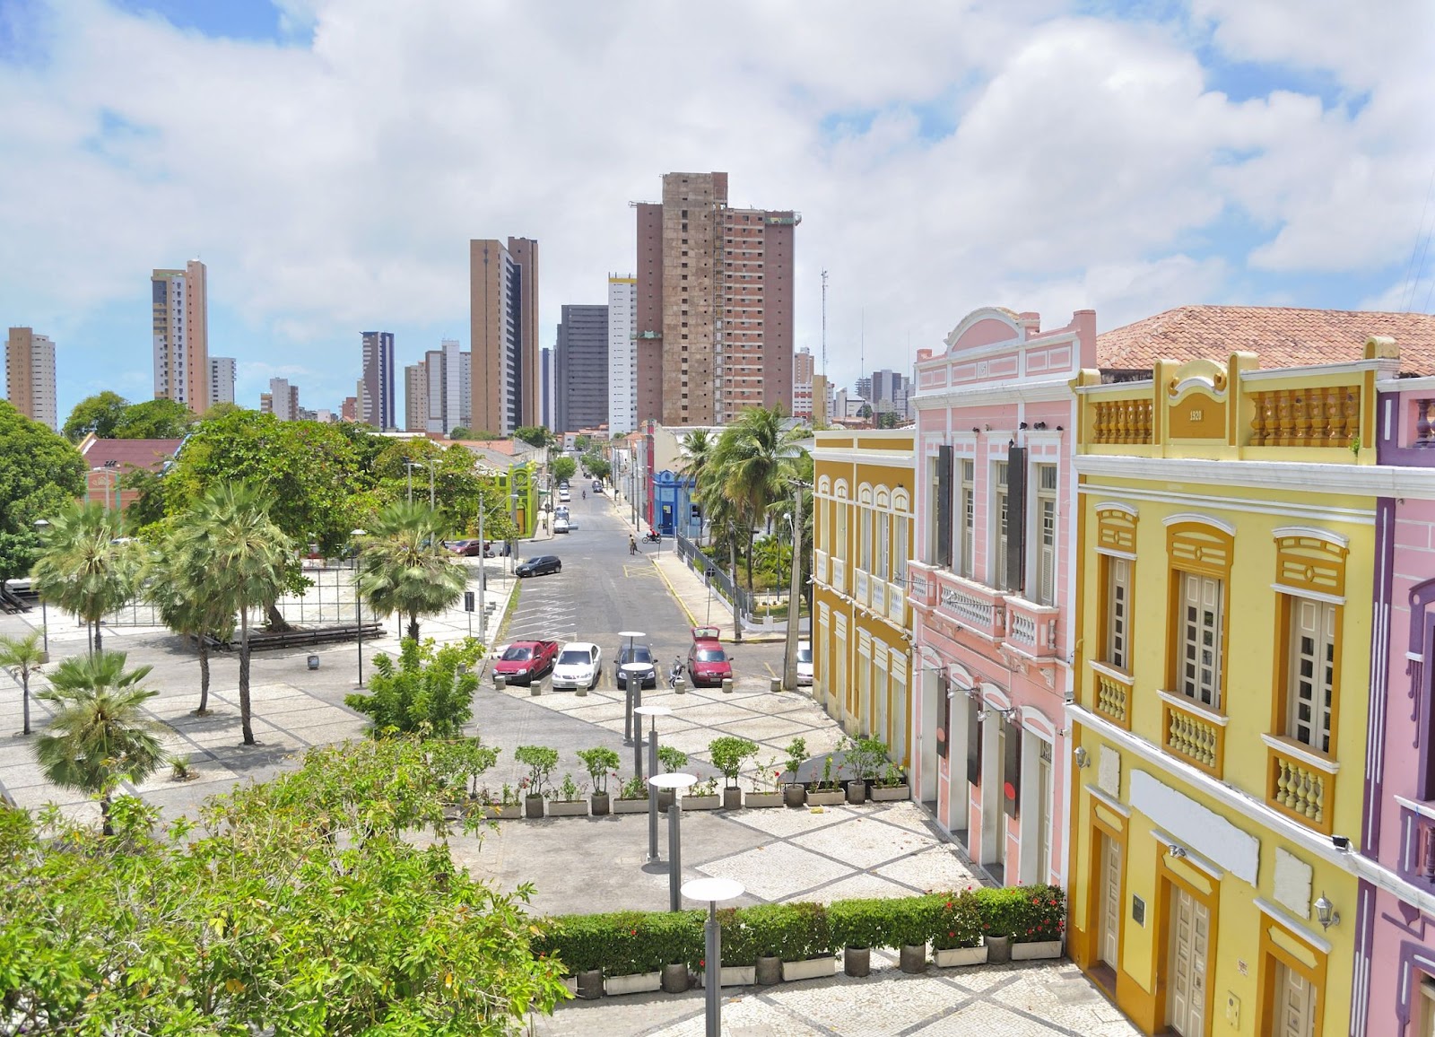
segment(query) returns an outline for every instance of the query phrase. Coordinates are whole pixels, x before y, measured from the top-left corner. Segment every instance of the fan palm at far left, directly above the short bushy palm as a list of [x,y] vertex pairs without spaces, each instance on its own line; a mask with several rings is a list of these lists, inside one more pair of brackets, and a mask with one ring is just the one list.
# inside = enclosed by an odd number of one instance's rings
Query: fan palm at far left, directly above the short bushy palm
[[40,597],[85,620],[99,652],[99,620],[131,599],[138,572],[136,544],[119,537],[115,513],[96,501],[69,504],[50,521],[30,576]]

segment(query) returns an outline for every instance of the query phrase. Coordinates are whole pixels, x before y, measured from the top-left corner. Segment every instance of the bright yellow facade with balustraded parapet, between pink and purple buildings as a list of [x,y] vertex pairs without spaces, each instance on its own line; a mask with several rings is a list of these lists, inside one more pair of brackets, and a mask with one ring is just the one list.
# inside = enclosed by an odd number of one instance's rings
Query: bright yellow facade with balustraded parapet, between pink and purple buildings
[[1379,352],[1075,382],[1068,951],[1145,1033],[1347,1033]]

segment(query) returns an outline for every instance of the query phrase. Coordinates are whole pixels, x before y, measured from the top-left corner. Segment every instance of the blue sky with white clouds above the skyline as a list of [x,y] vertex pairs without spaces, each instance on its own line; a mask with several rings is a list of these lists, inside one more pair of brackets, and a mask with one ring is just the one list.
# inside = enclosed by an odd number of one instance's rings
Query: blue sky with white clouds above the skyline
[[238,402],[337,409],[364,330],[469,348],[469,238],[538,240],[552,345],[715,169],[802,214],[838,385],[980,306],[1431,312],[1432,98],[1428,0],[0,0],[0,323],[62,419],[146,399],[151,270],[202,259]]

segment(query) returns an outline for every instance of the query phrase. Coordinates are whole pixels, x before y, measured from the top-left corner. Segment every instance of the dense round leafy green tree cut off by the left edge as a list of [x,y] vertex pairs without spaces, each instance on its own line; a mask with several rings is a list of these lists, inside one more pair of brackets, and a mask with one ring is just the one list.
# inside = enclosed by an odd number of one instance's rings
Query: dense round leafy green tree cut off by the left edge
[[3,399],[0,444],[0,580],[9,580],[34,564],[40,547],[34,521],[85,493],[85,458]]

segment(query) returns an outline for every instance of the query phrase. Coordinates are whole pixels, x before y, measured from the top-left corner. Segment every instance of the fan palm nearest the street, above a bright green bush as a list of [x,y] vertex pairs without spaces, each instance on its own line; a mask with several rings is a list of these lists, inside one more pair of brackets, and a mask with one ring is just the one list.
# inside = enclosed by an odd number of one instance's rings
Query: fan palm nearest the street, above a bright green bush
[[426,507],[386,504],[359,557],[359,592],[376,612],[409,618],[409,638],[419,639],[419,616],[451,608],[468,573],[443,547],[441,518]]

